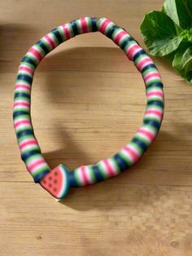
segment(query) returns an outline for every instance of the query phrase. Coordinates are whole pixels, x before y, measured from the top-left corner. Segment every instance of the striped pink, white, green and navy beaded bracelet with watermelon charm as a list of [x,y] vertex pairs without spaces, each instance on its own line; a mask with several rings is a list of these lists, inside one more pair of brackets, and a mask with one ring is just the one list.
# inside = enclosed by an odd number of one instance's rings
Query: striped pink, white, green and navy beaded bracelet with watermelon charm
[[[114,156],[99,161],[92,166],[81,166],[69,171],[59,165],[50,170],[34,135],[30,116],[31,87],[33,74],[40,61],[60,43],[81,33],[101,32],[111,38],[124,51],[129,60],[133,60],[137,70],[142,73],[146,85],[146,112],[142,126],[133,135],[130,143],[121,148]],[[164,115],[164,91],[159,71],[153,60],[146,55],[141,46],[116,24],[106,18],[82,17],[63,24],[32,46],[21,60],[15,83],[13,119],[15,134],[19,143],[21,158],[34,182],[52,196],[61,199],[70,187],[81,187],[110,179],[127,170],[157,135]]]

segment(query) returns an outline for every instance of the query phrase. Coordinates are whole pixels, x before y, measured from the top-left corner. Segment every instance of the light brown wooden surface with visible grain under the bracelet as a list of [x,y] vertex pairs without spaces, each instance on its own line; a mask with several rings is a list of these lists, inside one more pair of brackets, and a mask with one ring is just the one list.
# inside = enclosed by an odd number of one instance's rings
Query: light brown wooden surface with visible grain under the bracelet
[[[192,86],[155,59],[166,108],[158,138],[116,179],[56,202],[26,171],[12,126],[21,57],[59,24],[106,16],[141,43],[139,24],[161,0],[0,2],[0,255],[192,255]],[[73,38],[43,60],[33,84],[33,125],[51,167],[117,152],[142,122],[145,90],[108,38]]]

